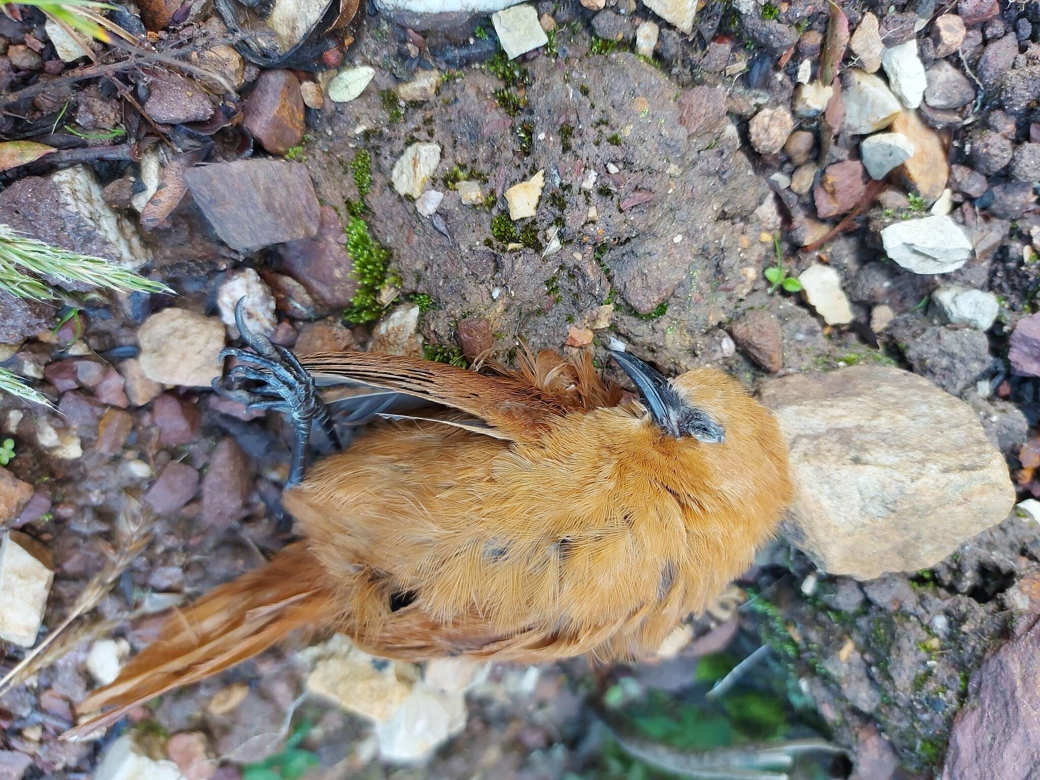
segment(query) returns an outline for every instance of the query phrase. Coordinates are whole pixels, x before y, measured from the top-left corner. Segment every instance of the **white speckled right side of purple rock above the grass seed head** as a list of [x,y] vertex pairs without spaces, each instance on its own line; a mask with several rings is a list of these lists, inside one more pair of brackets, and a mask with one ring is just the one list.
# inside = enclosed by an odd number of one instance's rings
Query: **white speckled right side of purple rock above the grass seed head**
[[133,223],[105,203],[101,184],[84,165],[73,165],[51,174],[58,188],[60,208],[76,212],[112,244],[108,258],[122,268],[136,269],[152,262],[152,252],[140,240]]

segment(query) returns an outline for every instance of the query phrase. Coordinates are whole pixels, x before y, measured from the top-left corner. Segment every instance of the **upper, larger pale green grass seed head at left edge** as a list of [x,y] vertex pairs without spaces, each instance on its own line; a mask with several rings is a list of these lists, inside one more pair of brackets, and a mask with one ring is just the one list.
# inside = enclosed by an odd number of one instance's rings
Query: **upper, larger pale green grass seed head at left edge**
[[120,292],[173,292],[162,282],[153,282],[132,270],[120,268],[103,257],[52,246],[24,236],[7,225],[0,225],[0,290],[33,301],[60,297],[36,277],[59,283],[79,282],[92,287],[107,287]]

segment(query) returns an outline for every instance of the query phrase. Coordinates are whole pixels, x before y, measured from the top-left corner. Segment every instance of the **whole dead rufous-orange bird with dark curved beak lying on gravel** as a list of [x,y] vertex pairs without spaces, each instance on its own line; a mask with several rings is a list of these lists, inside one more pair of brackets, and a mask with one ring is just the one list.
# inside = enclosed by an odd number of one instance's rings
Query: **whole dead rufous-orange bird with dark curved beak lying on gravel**
[[[669,381],[615,352],[639,394],[625,400],[588,353],[480,373],[365,353],[297,360],[238,329],[252,349],[224,350],[239,364],[214,388],[291,415],[283,504],[305,539],[174,614],[79,707],[114,709],[73,736],[300,630],[407,660],[645,656],[747,570],[791,496],[776,421],[716,368]],[[336,431],[316,382],[413,408],[305,476],[312,422]]]

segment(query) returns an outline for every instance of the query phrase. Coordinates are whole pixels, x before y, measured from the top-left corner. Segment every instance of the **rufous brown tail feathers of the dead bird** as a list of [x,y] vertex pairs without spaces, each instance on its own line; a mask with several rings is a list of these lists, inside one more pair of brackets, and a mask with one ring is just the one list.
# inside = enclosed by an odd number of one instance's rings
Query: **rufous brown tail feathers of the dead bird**
[[251,658],[297,629],[331,627],[337,613],[321,572],[307,546],[293,544],[266,566],[178,610],[113,682],[78,707],[80,712],[115,708],[71,729],[63,738],[82,738],[133,706]]

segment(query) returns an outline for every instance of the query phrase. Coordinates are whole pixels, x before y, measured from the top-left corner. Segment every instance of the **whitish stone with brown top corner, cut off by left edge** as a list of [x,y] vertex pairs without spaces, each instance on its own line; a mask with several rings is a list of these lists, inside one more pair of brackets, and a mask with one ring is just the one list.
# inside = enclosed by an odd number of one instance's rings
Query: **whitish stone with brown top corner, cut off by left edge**
[[19,647],[35,644],[54,579],[35,548],[31,539],[15,530],[0,542],[0,639]]

